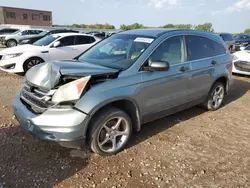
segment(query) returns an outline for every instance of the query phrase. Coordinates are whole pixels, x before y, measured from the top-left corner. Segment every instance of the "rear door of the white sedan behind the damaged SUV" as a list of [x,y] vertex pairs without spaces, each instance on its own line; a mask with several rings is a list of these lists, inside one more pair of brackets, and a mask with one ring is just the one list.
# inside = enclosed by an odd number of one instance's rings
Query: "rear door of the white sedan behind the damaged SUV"
[[94,37],[77,35],[75,38],[75,46],[74,46],[75,50],[78,53],[77,55],[85,52],[95,42],[96,40]]

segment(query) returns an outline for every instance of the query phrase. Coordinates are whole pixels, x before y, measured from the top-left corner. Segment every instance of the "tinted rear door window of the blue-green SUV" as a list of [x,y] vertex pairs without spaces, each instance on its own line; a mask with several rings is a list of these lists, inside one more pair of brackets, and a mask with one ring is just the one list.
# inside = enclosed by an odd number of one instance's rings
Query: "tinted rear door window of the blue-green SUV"
[[212,42],[210,39],[198,36],[187,37],[188,59],[194,61],[213,56]]

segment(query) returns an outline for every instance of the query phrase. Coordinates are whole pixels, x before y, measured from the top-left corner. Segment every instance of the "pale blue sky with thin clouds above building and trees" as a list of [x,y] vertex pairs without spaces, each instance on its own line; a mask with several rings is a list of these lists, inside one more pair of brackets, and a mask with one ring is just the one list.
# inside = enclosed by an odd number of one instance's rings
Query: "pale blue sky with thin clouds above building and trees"
[[54,24],[211,22],[217,32],[250,28],[250,0],[1,0],[0,5],[51,10]]

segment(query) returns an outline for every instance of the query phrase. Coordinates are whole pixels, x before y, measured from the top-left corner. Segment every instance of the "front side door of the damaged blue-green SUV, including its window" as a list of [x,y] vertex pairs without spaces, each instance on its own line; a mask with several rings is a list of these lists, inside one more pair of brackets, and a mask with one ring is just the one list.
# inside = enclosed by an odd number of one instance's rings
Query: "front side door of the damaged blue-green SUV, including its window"
[[190,63],[187,62],[184,36],[175,36],[161,43],[148,62],[166,61],[168,71],[142,73],[141,112],[144,122],[165,116],[170,109],[189,102]]

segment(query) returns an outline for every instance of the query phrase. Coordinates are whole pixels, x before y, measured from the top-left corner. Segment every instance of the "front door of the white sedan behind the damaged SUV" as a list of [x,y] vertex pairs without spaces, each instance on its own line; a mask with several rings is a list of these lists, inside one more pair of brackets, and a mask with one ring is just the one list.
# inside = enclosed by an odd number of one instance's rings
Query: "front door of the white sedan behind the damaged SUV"
[[78,50],[75,48],[75,36],[66,36],[59,39],[60,45],[56,48],[50,48],[51,60],[65,60],[73,59],[79,55]]

